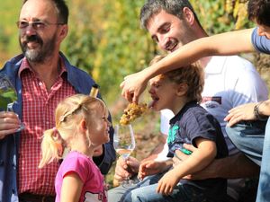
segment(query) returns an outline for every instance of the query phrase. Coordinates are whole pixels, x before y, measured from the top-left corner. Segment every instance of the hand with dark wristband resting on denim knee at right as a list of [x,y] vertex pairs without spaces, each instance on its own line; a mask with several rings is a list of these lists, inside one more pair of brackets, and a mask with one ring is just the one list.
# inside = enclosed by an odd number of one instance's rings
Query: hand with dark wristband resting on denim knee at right
[[239,105],[231,110],[229,114],[225,117],[225,121],[228,121],[228,126],[232,127],[241,120],[255,120],[254,107],[257,103],[247,103]]

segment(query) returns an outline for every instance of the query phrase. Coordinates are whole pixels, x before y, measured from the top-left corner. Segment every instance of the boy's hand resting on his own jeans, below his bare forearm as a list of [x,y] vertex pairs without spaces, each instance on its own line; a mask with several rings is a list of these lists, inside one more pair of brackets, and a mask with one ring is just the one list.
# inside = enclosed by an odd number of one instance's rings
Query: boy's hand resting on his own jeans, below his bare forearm
[[157,193],[170,195],[178,183],[178,178],[174,170],[167,171],[166,174],[158,181]]

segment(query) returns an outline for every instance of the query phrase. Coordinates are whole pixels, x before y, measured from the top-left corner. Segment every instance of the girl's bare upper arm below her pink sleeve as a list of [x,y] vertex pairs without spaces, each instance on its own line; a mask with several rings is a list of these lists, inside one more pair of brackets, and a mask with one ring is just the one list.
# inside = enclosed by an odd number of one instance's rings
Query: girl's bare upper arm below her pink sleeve
[[78,202],[83,189],[83,181],[75,172],[69,172],[63,179],[61,202]]

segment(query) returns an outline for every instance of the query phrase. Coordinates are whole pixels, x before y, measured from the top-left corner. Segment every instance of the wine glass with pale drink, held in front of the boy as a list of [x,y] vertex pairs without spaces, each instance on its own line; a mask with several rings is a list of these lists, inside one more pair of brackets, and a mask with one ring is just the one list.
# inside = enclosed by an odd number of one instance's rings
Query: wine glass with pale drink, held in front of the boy
[[[114,127],[113,146],[115,151],[127,161],[132,151],[135,149],[135,137],[132,126],[116,125]],[[122,186],[132,186],[134,182],[127,178],[121,182]]]

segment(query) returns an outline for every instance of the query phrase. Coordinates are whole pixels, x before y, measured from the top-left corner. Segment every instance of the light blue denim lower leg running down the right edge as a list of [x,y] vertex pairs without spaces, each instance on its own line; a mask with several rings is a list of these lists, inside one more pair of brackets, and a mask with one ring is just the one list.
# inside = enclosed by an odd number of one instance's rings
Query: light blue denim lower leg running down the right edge
[[270,201],[270,119],[268,119],[266,124],[266,136],[256,201]]

